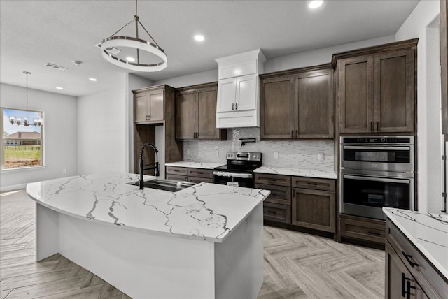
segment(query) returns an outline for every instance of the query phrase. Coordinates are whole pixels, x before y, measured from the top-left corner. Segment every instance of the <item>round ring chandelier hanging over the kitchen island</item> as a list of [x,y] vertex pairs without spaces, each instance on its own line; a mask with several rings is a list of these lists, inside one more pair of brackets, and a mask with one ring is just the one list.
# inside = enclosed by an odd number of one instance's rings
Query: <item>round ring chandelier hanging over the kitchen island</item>
[[[135,23],[135,37],[115,36],[132,22]],[[152,41],[146,41],[139,38],[139,24],[144,31],[146,31],[146,34],[148,34]],[[121,52],[120,48],[123,49],[122,47],[130,48],[132,52],[137,54],[137,58],[118,57],[117,52]],[[167,67],[167,55],[165,54],[165,51],[160,48],[153,36],[149,34],[148,30],[146,30],[139,20],[139,16],[137,15],[137,0],[135,0],[135,15],[132,20],[116,31],[116,33],[112,34],[108,38],[104,38],[101,44],[101,52],[104,59],[111,62],[111,64],[115,64],[116,66],[121,66],[132,71],[155,72],[162,71]],[[148,57],[151,57],[151,59]]]

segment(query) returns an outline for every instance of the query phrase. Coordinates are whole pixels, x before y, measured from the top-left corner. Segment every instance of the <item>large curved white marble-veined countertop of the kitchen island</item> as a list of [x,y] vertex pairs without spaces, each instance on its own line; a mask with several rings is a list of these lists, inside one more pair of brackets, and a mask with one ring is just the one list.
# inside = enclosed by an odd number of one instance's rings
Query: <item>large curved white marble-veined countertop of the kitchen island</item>
[[[145,180],[155,177],[145,176]],[[130,183],[139,175],[100,173],[27,184],[36,203],[124,229],[223,242],[270,191],[200,183],[177,192]]]

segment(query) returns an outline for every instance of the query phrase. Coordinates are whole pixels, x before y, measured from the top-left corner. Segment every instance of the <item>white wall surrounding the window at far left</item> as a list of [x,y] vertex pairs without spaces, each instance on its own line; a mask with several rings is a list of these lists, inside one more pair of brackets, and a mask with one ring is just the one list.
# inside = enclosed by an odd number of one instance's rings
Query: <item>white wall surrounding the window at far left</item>
[[[25,109],[26,89],[0,84],[1,106]],[[29,182],[76,175],[76,97],[36,89],[28,91],[29,110],[44,113],[44,168],[1,170],[1,191],[25,188]],[[62,169],[66,173],[62,173]]]

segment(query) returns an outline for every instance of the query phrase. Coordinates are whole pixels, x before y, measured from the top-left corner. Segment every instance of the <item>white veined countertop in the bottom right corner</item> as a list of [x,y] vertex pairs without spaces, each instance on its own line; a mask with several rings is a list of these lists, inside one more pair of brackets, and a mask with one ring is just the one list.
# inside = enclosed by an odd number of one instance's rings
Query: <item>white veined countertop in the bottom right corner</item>
[[383,207],[400,231],[448,279],[448,215]]

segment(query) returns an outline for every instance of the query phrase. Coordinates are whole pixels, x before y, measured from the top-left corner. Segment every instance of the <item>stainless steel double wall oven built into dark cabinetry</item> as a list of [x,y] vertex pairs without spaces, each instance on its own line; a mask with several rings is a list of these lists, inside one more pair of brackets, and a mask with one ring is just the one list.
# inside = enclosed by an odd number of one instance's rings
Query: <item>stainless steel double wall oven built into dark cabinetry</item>
[[414,210],[414,137],[340,140],[340,212],[385,219],[382,207]]

